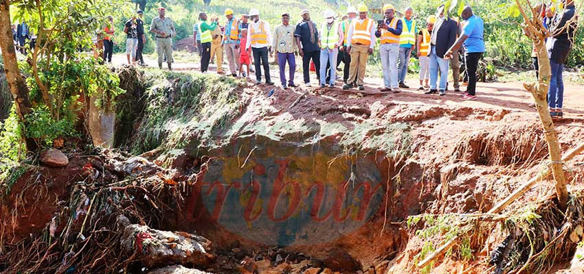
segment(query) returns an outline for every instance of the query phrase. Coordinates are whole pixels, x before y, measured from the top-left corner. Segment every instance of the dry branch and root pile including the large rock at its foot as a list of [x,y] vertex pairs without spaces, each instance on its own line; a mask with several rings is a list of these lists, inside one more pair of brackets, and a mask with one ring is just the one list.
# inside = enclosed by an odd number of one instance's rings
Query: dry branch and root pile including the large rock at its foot
[[[4,241],[0,273],[125,273],[179,263],[173,259],[177,256],[190,265],[212,260],[208,240],[150,228],[164,229],[165,214],[183,204],[190,189],[186,177],[144,158],[127,159],[112,151],[102,155],[87,158],[85,179],[69,186],[69,199],[58,202],[59,210],[41,232]],[[8,208],[17,218],[18,202]],[[6,229],[1,234],[10,238]],[[150,260],[150,253],[161,259]]]

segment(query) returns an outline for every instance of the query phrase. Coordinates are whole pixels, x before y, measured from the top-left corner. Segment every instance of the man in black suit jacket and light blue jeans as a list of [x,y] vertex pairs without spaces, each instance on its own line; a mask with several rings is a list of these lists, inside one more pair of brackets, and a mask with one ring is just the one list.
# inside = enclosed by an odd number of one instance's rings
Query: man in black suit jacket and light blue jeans
[[[434,24],[434,31],[430,39],[429,71],[430,90],[425,94],[438,93],[440,96],[446,95],[446,84],[448,81],[449,60],[445,59],[445,53],[456,41],[458,25],[456,21],[444,16],[444,5],[440,5],[436,12],[438,20]],[[438,71],[440,71],[440,84],[438,82]]]

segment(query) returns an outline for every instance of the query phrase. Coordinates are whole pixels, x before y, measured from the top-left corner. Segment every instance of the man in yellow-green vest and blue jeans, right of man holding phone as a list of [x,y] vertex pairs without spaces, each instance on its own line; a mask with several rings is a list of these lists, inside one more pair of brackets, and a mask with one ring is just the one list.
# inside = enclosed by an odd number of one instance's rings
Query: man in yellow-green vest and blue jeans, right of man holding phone
[[399,36],[399,62],[397,68],[400,88],[409,88],[404,83],[405,75],[407,75],[409,57],[412,55],[412,50],[416,49],[418,29],[416,29],[416,21],[412,20],[412,13],[414,13],[414,9],[408,7],[405,9],[404,18],[401,18],[403,30]]

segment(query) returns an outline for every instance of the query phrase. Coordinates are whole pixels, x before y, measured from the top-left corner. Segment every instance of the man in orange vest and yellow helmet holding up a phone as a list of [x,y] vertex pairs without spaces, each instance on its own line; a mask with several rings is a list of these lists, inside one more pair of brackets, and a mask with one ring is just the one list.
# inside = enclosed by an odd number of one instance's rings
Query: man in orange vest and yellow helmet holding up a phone
[[379,55],[383,66],[383,88],[381,91],[399,92],[397,59],[399,55],[399,36],[402,30],[402,21],[394,17],[394,6],[384,5],[384,20],[378,22],[375,36],[381,38]]

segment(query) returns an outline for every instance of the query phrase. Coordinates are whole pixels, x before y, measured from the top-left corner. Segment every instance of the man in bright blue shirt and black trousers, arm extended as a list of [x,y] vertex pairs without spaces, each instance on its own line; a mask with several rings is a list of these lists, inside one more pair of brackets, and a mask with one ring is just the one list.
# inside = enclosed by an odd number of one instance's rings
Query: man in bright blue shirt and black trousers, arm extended
[[462,35],[446,52],[445,58],[452,58],[452,53],[458,50],[461,45],[464,45],[464,62],[467,64],[469,86],[467,86],[467,93],[462,99],[476,100],[477,67],[484,53],[484,24],[479,16],[473,14],[473,10],[469,5],[464,7],[460,16],[464,20]]

